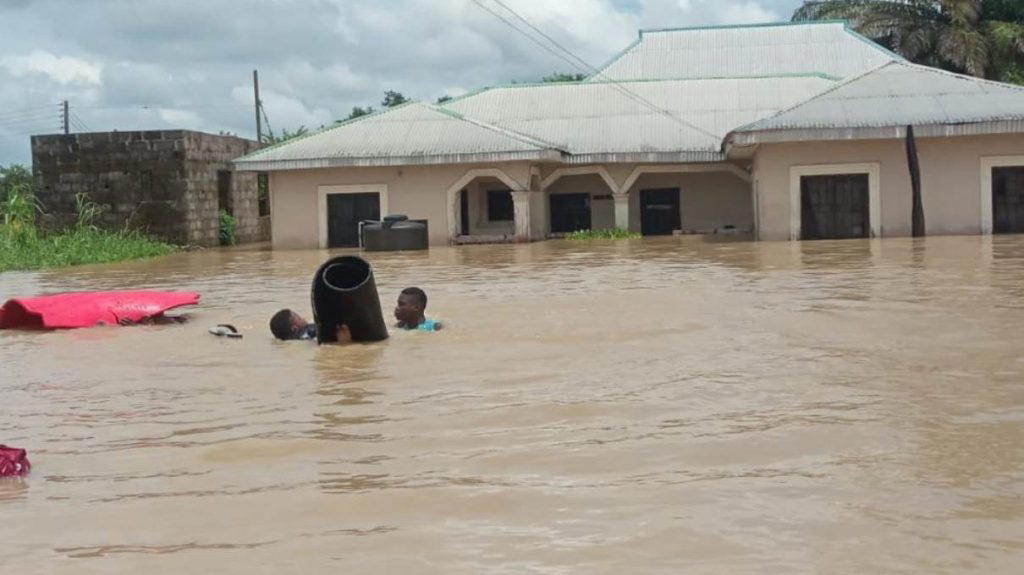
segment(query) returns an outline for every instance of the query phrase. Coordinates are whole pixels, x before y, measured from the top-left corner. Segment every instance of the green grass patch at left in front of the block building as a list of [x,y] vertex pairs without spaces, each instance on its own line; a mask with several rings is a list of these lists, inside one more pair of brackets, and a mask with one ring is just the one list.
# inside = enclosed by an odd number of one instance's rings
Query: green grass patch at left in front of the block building
[[0,203],[0,272],[98,264],[163,256],[177,247],[137,230],[110,231],[93,221],[99,208],[85,194],[76,196],[78,221],[63,231],[47,233],[36,227],[41,212],[27,187],[14,187]]

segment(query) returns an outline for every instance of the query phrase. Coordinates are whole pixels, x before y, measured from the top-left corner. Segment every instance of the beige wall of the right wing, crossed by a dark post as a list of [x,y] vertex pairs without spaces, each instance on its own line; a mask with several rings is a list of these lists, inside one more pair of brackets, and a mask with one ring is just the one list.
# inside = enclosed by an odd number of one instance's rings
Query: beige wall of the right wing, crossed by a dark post
[[[1007,156],[1024,156],[1024,134],[919,138],[928,233],[980,233],[982,159]],[[882,235],[909,235],[910,172],[903,140],[892,139],[759,146],[754,163],[758,237],[791,237],[792,169],[841,164],[878,164]]]

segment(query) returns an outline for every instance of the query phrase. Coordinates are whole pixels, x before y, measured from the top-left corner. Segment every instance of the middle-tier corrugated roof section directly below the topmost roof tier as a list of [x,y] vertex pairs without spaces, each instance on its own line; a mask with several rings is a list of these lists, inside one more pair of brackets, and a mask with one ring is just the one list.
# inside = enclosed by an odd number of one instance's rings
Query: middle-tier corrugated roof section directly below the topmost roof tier
[[666,153],[677,162],[711,162],[721,159],[730,130],[833,85],[821,76],[518,85],[445,107],[552,142],[571,154],[569,162]]

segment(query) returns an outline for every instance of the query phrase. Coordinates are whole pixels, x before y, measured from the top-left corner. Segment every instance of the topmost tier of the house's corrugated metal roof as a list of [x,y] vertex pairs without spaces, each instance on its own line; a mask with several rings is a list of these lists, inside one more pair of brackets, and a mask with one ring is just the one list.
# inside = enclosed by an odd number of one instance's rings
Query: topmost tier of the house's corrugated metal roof
[[654,80],[825,74],[848,78],[902,59],[843,21],[654,30],[592,79]]

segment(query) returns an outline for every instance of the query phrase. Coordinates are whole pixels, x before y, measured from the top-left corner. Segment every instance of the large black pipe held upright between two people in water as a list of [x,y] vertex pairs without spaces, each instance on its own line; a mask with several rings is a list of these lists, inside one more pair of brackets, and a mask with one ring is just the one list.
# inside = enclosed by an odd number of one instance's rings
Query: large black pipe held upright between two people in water
[[387,339],[374,270],[362,258],[340,256],[316,270],[312,288],[316,343],[337,342],[338,325],[348,325],[353,342]]

